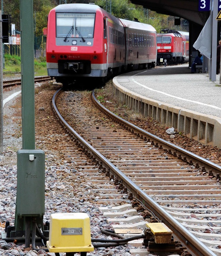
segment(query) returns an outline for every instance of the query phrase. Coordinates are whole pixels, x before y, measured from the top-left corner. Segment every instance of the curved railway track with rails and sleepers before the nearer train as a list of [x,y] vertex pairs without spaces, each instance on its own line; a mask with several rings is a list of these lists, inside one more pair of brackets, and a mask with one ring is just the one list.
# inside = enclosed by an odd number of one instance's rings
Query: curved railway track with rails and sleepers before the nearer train
[[[122,123],[95,97],[88,103],[83,94],[60,93],[53,98],[57,115],[81,151],[173,230],[193,255],[221,255],[220,166]],[[67,150],[71,161],[76,156]],[[99,172],[83,171],[98,182]]]

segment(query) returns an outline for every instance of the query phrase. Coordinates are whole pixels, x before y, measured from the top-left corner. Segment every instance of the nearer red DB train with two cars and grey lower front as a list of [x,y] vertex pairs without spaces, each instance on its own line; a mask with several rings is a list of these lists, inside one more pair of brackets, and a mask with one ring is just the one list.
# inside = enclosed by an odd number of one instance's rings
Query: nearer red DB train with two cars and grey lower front
[[156,30],[118,19],[95,4],[60,4],[49,12],[48,75],[63,84],[155,67]]

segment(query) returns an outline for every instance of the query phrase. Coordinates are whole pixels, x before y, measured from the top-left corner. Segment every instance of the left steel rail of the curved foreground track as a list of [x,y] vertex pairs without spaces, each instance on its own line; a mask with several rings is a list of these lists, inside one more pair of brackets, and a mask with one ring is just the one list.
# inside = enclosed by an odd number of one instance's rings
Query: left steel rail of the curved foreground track
[[[110,169],[110,172],[118,177],[119,180],[122,180],[124,186],[133,193],[133,196],[137,198],[143,205],[150,209],[159,219],[161,219],[167,227],[169,227],[174,236],[176,236],[183,245],[188,247],[188,250],[191,251],[192,255],[197,256],[216,256],[207,246],[205,246],[198,238],[193,236],[188,229],[183,227],[173,216],[167,213],[160,205],[158,205],[152,198],[147,196],[147,194],[140,189],[134,182],[132,182],[128,177],[125,176],[118,168],[116,168],[108,159],[106,159],[101,153],[93,148],[87,141],[85,141],[61,116],[57,107],[56,107],[56,98],[61,92],[60,88],[52,97],[52,106],[54,111],[64,125],[67,131],[74,136],[75,139],[80,142],[84,148],[92,154],[98,161],[102,162],[103,166],[107,169]],[[93,92],[94,94],[94,92]],[[120,117],[119,117],[120,118]],[[127,125],[129,123],[127,122]],[[135,125],[133,125],[135,129]],[[138,128],[138,127],[137,127]],[[153,135],[154,136],[154,135]],[[154,136],[155,138],[156,136]],[[156,139],[156,138],[155,138]],[[171,144],[171,143],[170,143]]]

